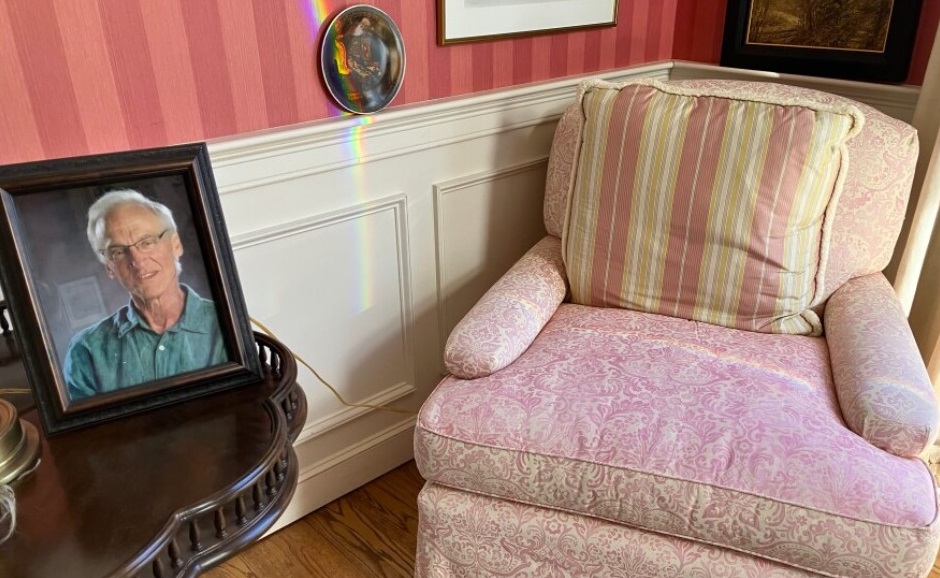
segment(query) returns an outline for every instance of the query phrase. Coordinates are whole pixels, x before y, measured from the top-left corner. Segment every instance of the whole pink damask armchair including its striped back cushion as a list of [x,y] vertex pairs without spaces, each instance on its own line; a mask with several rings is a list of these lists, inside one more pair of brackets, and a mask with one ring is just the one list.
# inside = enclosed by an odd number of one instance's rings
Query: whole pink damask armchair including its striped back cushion
[[417,576],[926,576],[938,410],[880,272],[916,155],[817,91],[582,85],[548,236],[421,410]]

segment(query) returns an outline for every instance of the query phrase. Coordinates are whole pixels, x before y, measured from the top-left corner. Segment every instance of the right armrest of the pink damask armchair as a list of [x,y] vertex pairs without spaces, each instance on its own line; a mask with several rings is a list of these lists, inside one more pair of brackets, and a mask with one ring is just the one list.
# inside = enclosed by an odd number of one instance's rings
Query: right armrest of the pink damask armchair
[[940,414],[904,312],[881,273],[848,281],[825,313],[832,378],[855,433],[898,456],[933,444]]

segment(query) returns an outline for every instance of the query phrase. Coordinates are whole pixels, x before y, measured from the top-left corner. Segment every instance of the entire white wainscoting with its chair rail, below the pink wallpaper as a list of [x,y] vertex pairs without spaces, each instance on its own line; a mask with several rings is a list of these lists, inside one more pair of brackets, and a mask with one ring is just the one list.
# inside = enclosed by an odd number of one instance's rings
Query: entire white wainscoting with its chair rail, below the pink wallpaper
[[[919,89],[663,61],[590,75],[748,78],[913,115]],[[555,124],[587,76],[211,141],[249,311],[354,402],[417,411],[463,310],[540,233]],[[540,174],[541,173],[541,174]],[[532,212],[536,214],[531,214]],[[278,527],[412,457],[414,418],[300,370],[301,482]]]

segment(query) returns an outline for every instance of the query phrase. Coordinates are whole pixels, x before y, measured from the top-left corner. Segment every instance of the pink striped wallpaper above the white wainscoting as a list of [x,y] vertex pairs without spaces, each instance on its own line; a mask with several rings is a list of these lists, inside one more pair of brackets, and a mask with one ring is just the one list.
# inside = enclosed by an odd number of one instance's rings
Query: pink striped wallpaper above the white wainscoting
[[[669,58],[717,62],[725,5],[619,0],[616,27],[442,47],[435,0],[0,0],[0,164],[343,114],[317,71],[319,39],[356,3],[402,31],[392,106]],[[938,4],[925,2],[914,82]]]

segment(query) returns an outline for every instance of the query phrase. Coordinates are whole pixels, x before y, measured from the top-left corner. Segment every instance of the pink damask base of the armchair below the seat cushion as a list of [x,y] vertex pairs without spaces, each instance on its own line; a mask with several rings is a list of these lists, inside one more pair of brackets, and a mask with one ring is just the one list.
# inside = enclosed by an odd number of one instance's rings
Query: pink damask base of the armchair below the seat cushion
[[[701,542],[427,484],[415,578],[810,578]],[[835,555],[835,554],[833,554]]]

